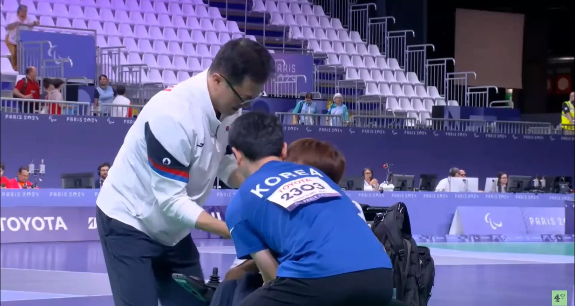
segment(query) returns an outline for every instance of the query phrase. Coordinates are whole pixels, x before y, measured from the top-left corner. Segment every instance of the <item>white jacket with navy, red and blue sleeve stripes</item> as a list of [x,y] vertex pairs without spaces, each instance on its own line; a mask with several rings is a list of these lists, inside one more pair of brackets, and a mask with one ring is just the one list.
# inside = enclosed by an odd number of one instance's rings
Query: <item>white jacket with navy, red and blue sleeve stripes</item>
[[[110,218],[173,246],[190,233],[220,177],[236,169],[226,155],[239,113],[216,118],[204,71],[158,92],[124,138],[97,206]],[[230,152],[228,152],[230,153]]]

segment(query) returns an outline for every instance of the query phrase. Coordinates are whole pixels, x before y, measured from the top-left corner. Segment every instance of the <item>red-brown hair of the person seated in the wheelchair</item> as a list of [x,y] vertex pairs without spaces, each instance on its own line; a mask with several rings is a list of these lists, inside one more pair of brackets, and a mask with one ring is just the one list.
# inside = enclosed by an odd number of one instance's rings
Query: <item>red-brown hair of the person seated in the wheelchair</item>
[[329,142],[301,138],[287,146],[287,161],[320,169],[336,184],[346,170],[346,158]]

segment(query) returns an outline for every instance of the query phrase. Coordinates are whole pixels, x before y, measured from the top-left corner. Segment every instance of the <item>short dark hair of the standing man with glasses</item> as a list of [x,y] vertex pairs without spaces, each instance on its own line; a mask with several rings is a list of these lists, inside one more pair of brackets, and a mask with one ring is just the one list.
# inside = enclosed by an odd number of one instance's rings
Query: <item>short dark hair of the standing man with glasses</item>
[[237,38],[221,47],[209,71],[221,73],[232,86],[240,85],[245,78],[263,84],[275,72],[275,61],[259,42]]

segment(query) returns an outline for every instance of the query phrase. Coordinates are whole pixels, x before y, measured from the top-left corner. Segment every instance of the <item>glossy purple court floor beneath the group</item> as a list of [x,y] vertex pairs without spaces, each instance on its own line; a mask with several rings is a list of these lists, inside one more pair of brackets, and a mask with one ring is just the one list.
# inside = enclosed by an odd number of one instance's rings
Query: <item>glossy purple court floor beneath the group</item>
[[[205,277],[216,266],[223,276],[235,257],[230,242],[196,243]],[[568,290],[573,305],[573,243],[426,245],[436,264],[430,306],[547,306],[551,290]],[[98,242],[2,244],[1,304],[112,306],[105,273]]]

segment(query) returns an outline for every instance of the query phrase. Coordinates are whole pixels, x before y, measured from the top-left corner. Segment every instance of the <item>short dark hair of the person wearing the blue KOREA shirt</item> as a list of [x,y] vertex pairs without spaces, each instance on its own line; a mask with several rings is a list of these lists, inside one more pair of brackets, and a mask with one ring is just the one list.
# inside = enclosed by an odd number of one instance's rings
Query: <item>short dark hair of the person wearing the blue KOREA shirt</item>
[[250,111],[237,118],[229,129],[229,146],[257,161],[269,156],[282,156],[283,127],[278,117]]

